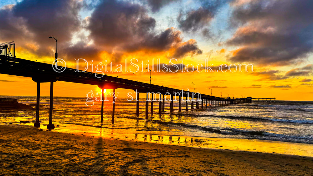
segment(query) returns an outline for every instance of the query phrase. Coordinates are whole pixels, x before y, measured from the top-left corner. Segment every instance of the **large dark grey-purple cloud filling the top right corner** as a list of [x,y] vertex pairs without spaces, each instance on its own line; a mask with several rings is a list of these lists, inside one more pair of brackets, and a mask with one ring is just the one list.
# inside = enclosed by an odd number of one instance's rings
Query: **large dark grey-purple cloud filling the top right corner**
[[313,51],[313,1],[249,1],[234,5],[233,27],[226,44],[240,46],[231,62],[289,65]]

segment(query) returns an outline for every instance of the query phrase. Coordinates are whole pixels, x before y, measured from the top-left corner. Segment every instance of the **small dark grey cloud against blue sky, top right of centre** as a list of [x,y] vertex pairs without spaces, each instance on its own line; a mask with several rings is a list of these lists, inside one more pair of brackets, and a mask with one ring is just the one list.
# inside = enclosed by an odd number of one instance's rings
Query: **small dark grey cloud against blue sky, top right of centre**
[[212,36],[212,33],[207,27],[219,8],[227,2],[229,0],[201,1],[200,8],[190,10],[187,13],[181,11],[177,17],[179,28],[184,32],[201,31],[203,36]]

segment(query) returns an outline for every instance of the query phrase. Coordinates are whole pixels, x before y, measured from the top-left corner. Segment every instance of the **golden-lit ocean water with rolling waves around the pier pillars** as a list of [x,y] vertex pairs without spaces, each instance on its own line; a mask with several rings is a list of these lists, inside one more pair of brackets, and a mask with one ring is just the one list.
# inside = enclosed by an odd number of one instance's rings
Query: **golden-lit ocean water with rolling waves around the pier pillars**
[[[6,96],[17,98],[19,103],[35,104],[35,96]],[[110,100],[110,99],[109,99]],[[115,121],[112,124],[112,102],[104,102],[103,124],[100,122],[101,102],[93,106],[85,105],[84,97],[54,97],[53,124],[57,130],[88,133],[108,133],[117,136],[138,135],[143,140],[158,141],[170,136],[167,142],[192,140],[192,143],[206,145],[200,139],[256,139],[280,142],[313,144],[313,102],[276,101],[239,103],[228,106],[204,108],[202,110],[178,112],[178,102],[174,102],[174,112],[169,113],[169,102],[165,102],[165,113],[159,115],[159,103],[154,102],[154,114],[145,117],[145,99],[140,99],[140,115],[136,116],[136,101],[119,98],[115,103]],[[190,109],[191,103],[189,103]],[[49,97],[40,97],[41,128],[49,123]],[[35,122],[35,110],[0,112],[0,123],[16,124],[19,121]],[[148,137],[147,137],[148,136]],[[148,139],[147,139],[148,138]],[[157,138],[157,139],[154,139]],[[198,141],[196,141],[196,139]],[[174,142],[173,142],[174,141]],[[175,142],[175,143],[176,143]],[[197,146],[199,146],[197,145]],[[313,146],[313,145],[309,145]],[[312,148],[313,149],[313,148]]]

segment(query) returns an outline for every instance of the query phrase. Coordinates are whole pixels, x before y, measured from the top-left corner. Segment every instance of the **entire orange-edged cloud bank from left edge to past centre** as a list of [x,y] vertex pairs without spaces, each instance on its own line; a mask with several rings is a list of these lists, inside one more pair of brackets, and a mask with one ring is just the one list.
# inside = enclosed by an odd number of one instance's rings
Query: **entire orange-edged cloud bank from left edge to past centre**
[[[157,10],[171,2],[147,3]],[[82,19],[84,9],[93,11]],[[23,0],[1,8],[0,16],[1,41],[18,41],[18,47],[39,57],[54,54],[55,41],[49,36],[58,39],[59,58],[64,59],[108,58],[118,62],[123,54],[137,51],[163,52],[177,58],[202,54],[197,42],[183,40],[177,29],[155,29],[156,20],[148,14],[147,6],[138,2]]]

